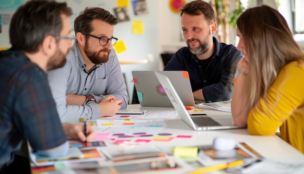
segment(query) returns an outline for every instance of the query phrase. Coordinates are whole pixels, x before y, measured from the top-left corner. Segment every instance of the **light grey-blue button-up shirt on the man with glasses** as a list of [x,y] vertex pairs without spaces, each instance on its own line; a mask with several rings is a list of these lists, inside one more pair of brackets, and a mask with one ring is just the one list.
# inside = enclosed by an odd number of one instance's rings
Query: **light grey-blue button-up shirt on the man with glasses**
[[94,103],[67,105],[66,94],[93,95],[97,103],[111,94],[115,99],[122,100],[121,109],[125,109],[129,101],[127,87],[113,48],[108,62],[95,65],[88,72],[76,42],[68,52],[66,65],[49,71],[48,78],[61,122],[77,122],[81,117],[88,120],[98,119],[102,112],[98,104]]

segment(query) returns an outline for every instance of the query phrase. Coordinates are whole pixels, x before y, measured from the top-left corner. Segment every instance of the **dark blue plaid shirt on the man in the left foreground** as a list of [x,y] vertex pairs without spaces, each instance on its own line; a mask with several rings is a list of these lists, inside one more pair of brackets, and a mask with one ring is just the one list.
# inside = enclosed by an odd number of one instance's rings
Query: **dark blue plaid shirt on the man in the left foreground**
[[47,74],[22,52],[0,52],[0,168],[13,160],[22,139],[45,150],[67,140]]

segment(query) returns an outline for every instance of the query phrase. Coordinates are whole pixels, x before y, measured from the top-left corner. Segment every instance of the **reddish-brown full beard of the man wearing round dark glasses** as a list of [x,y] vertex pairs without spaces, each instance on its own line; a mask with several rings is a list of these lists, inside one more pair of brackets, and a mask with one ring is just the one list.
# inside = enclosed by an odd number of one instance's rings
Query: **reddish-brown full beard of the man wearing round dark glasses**
[[[84,53],[86,54],[86,56],[89,58],[89,60],[93,63],[93,64],[102,64],[102,63],[106,63],[109,60],[109,54],[110,54],[111,50],[109,49],[102,49],[99,52],[93,52],[89,49],[89,46],[87,43],[85,43],[84,45]],[[103,53],[101,55],[101,53]]]

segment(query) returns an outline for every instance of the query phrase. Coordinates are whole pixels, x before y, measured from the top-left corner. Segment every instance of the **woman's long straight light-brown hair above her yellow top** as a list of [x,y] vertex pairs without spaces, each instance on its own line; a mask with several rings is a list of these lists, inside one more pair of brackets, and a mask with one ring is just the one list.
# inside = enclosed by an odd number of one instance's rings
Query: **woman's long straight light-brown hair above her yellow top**
[[261,97],[266,99],[268,89],[286,64],[304,61],[304,52],[293,39],[285,18],[267,5],[247,9],[236,25],[250,62],[245,95],[253,108]]

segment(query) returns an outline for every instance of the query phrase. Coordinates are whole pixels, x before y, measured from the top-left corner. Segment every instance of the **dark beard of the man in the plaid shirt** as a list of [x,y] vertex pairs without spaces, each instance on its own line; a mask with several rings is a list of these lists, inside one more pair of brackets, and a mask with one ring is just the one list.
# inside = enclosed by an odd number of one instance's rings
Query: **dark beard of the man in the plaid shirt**
[[47,70],[55,70],[57,68],[61,68],[66,65],[68,52],[63,53],[58,47],[54,55],[51,56],[47,63]]

